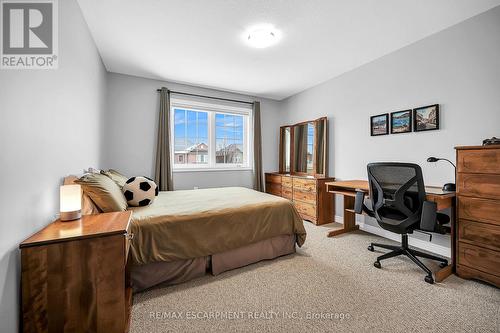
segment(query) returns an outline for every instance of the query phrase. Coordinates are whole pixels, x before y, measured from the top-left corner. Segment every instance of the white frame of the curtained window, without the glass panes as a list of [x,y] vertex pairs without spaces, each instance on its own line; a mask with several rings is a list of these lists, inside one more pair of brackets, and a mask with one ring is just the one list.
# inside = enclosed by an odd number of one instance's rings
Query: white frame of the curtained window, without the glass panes
[[[170,99],[170,124],[175,124],[175,109],[185,109],[208,113],[208,163],[203,164],[176,164],[175,163],[175,125],[170,131],[170,160],[173,172],[193,171],[228,171],[228,170],[253,170],[253,122],[252,107],[207,103],[183,98]],[[243,115],[243,163],[216,163],[215,158],[215,114]]]

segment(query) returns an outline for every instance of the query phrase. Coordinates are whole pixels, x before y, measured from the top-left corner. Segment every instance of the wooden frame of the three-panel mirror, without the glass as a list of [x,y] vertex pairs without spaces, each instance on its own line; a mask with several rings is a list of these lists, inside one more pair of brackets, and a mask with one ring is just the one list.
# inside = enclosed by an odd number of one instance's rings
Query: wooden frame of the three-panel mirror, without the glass
[[[295,135],[294,135],[294,128],[295,126],[300,126],[300,125],[305,125],[308,123],[312,123],[314,126],[314,159],[313,159],[313,172],[299,172],[295,170]],[[319,124],[323,123],[324,127],[324,133],[323,133],[323,165],[322,165],[322,170],[323,172],[318,172],[318,153],[319,153],[319,148],[318,148],[318,142],[319,142],[319,133],[318,133],[318,128]],[[285,170],[285,161],[283,158],[284,155],[284,145],[285,145],[285,131],[287,128],[290,128],[290,170],[286,171]],[[327,177],[328,176],[328,119],[326,117],[321,117],[315,120],[308,120],[308,121],[303,121],[300,123],[296,123],[293,125],[285,125],[280,127],[280,140],[279,140],[279,173],[282,174],[292,174],[292,175],[300,175],[300,176],[313,176],[313,177]]]

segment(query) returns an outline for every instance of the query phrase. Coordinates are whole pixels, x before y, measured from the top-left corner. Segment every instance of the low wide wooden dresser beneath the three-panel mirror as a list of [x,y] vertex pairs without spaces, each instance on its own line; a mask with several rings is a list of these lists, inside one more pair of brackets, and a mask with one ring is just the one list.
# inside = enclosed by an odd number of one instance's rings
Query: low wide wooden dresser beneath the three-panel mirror
[[333,195],[326,191],[326,182],[332,177],[306,177],[266,173],[266,192],[293,201],[304,220],[320,225],[334,222]]

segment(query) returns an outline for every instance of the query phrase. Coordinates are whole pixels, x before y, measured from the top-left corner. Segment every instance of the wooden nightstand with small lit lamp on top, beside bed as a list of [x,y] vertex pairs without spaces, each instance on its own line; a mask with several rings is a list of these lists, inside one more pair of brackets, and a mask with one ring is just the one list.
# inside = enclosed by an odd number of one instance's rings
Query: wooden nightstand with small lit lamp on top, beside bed
[[23,332],[126,332],[132,212],[55,221],[20,244]]

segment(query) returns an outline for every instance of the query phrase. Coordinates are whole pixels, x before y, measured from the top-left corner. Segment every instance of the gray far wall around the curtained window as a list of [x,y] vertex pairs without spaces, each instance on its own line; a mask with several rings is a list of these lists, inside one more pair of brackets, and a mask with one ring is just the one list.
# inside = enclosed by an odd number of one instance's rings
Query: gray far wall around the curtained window
[[[108,110],[103,145],[103,167],[116,168],[127,175],[154,174],[156,126],[159,97],[156,89],[205,94],[215,97],[253,101],[251,96],[233,94],[194,86],[161,82],[122,74],[109,73]],[[279,102],[261,101],[263,167],[275,171],[278,166]],[[206,171],[174,173],[175,189],[219,186],[252,187],[252,171]]]

